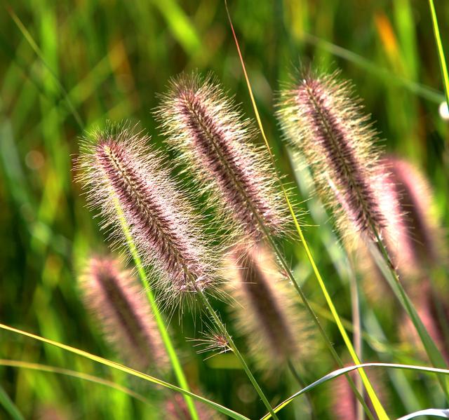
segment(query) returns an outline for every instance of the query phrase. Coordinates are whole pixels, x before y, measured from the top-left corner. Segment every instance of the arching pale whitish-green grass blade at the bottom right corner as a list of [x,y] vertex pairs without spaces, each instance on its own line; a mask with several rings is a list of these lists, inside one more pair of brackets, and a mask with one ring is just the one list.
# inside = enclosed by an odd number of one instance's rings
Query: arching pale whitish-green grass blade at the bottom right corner
[[[274,408],[274,411],[279,412],[279,410],[283,409],[283,407],[286,407],[286,405],[290,404],[290,402],[292,402],[296,397],[299,397],[303,393],[307,393],[308,391],[311,391],[312,389],[316,388],[316,386],[324,384],[324,382],[330,381],[330,379],[340,377],[342,374],[347,374],[349,372],[352,372],[353,370],[363,369],[363,367],[388,367],[390,369],[415,370],[418,372],[428,372],[428,373],[449,375],[448,369],[439,369],[438,367],[400,365],[398,363],[361,363],[360,365],[342,367],[341,369],[337,369],[337,370],[334,370],[333,372],[328,373],[324,377],[321,377],[320,379],[314,381],[314,383],[306,386],[305,388],[302,388],[301,391],[298,391],[297,393],[294,393],[293,395],[288,397],[285,401],[281,402],[281,404],[277,405]],[[266,420],[269,418],[270,418],[270,414],[265,414],[261,420]]]

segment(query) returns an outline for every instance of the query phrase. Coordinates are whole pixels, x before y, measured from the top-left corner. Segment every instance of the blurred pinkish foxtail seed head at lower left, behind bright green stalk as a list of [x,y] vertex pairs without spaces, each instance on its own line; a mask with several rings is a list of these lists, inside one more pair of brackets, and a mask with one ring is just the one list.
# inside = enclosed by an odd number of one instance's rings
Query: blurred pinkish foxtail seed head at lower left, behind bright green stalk
[[80,277],[86,306],[130,366],[168,370],[168,357],[138,281],[112,258],[92,258]]

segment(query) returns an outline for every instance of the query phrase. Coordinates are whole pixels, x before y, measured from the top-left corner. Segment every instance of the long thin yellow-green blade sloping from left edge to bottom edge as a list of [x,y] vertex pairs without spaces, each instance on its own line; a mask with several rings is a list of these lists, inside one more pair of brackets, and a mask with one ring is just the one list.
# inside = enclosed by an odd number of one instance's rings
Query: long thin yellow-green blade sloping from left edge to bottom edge
[[185,389],[180,388],[179,386],[175,386],[173,384],[169,384],[166,381],[162,381],[161,379],[158,379],[156,377],[152,377],[149,374],[145,374],[142,372],[139,372],[138,370],[131,369],[130,367],[126,367],[124,365],[121,365],[120,363],[112,362],[111,360],[107,360],[105,358],[102,358],[98,355],[94,355],[92,353],[88,353],[87,351],[80,350],[76,347],[67,346],[67,344],[59,343],[58,341],[53,341],[51,339],[46,339],[44,337],[40,337],[39,335],[32,334],[31,332],[26,332],[23,330],[18,330],[18,328],[13,328],[8,325],[4,325],[0,323],[0,328],[2,330],[6,330],[9,332],[15,332],[15,334],[24,335],[25,337],[29,337],[32,339],[35,339],[37,341],[41,341],[45,344],[50,344],[51,346],[55,346],[58,348],[62,348],[62,350],[69,351],[70,353],[74,353],[76,355],[81,355],[83,358],[87,358],[89,360],[93,360],[93,362],[100,363],[101,365],[105,365],[108,367],[112,367],[112,369],[120,370],[121,372],[125,372],[127,374],[133,375],[133,377],[138,377],[140,379],[144,379],[145,381],[152,382],[152,384],[156,384],[159,386],[163,386],[164,388],[168,388],[172,391],[176,391],[179,393],[182,393],[183,395],[188,395],[189,397],[193,398],[194,400],[197,400],[199,402],[204,402],[207,405],[210,405],[210,407],[213,407],[218,412],[225,414],[232,419],[236,420],[250,420],[248,417],[243,416],[243,414],[239,414],[237,412],[234,412],[232,409],[229,409],[227,407],[224,407],[217,402],[213,402],[211,400],[208,400],[207,398],[201,397],[201,395],[197,395],[195,393],[192,393],[190,391],[186,391]]

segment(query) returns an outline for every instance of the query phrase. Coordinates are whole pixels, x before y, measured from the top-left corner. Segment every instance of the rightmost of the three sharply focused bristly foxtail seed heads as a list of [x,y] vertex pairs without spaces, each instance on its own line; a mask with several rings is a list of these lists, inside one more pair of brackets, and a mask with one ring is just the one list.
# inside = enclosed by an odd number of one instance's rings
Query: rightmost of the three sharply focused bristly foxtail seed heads
[[306,158],[319,193],[337,215],[342,235],[374,238],[384,217],[374,184],[379,152],[368,116],[361,114],[351,85],[338,74],[308,72],[281,92],[277,115],[288,141]]

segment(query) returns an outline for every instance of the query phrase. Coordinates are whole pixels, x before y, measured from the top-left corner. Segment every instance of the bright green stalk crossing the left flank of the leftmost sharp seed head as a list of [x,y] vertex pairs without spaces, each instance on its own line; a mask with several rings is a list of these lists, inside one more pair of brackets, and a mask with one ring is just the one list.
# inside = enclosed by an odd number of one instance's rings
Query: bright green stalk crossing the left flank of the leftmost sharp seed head
[[[126,243],[128,244],[130,254],[133,257],[134,264],[138,269],[138,273],[139,273],[140,280],[142,281],[142,285],[145,288],[145,291],[147,293],[147,299],[148,299],[149,305],[152,308],[154,319],[156,320],[157,327],[159,328],[159,332],[161,333],[161,338],[162,338],[163,344],[166,347],[166,350],[168,353],[168,358],[170,358],[170,363],[173,367],[173,371],[175,372],[177,382],[178,382],[178,384],[180,384],[180,387],[182,389],[185,389],[185,391],[190,391],[189,384],[187,384],[187,379],[185,377],[185,374],[182,370],[182,366],[180,364],[180,360],[177,358],[175,348],[173,347],[170,336],[168,335],[167,327],[166,327],[165,322],[161,316],[159,307],[156,304],[156,300],[154,299],[154,294],[153,294],[151,288],[149,287],[147,273],[145,272],[145,269],[143,268],[142,260],[140,259],[138,250],[137,250],[134,240],[133,240],[133,237],[131,236],[131,233],[129,231],[128,223],[126,222],[126,219],[123,215],[123,210],[121,209],[121,205],[119,203],[118,198],[116,198],[115,196],[114,196],[114,204],[115,204],[117,215],[119,217],[119,222],[121,224],[121,229],[123,230],[123,234],[125,235]],[[185,399],[187,408],[189,409],[189,414],[190,414],[190,416],[192,416],[192,419],[199,420],[198,412],[196,412],[196,407],[195,407],[195,404],[194,404],[194,401],[192,400],[192,398],[190,398],[187,395],[183,395],[183,398]]]

